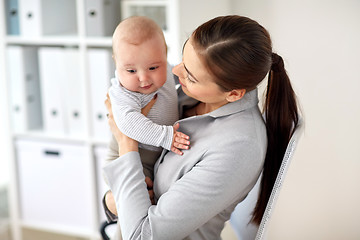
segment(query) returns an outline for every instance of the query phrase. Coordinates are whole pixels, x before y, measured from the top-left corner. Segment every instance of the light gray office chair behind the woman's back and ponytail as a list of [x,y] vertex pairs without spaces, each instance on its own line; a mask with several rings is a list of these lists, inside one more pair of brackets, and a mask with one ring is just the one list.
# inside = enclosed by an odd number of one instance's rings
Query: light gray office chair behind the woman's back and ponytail
[[298,125],[295,129],[294,134],[292,135],[288,146],[285,150],[284,158],[281,163],[279,173],[274,183],[269,201],[266,205],[264,215],[262,217],[261,223],[259,226],[250,222],[252,217],[252,212],[255,208],[259,190],[262,174],[260,175],[255,186],[249,192],[247,197],[240,202],[234,212],[231,214],[230,224],[238,238],[238,240],[260,240],[265,238],[267,226],[269,219],[271,217],[275,203],[279,197],[280,189],[284,181],[285,175],[290,165],[290,161],[295,152],[296,146],[300,139],[300,136],[303,132],[303,121],[300,118]]

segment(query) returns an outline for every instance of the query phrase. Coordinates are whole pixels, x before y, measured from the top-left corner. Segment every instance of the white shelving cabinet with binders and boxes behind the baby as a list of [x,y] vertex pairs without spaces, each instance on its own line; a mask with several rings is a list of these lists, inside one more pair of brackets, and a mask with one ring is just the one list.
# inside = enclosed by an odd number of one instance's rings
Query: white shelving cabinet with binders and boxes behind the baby
[[5,158],[15,240],[24,228],[100,239],[101,166],[110,139],[104,100],[118,22],[153,18],[176,64],[195,27],[229,11],[229,0],[0,1],[0,94],[10,125]]

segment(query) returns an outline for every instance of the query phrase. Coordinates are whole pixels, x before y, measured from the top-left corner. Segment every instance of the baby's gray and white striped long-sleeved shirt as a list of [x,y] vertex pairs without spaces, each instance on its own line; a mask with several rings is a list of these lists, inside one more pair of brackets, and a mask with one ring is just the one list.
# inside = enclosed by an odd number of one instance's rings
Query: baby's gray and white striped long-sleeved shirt
[[[121,132],[138,141],[139,147],[152,151],[170,150],[174,130],[172,125],[179,119],[175,81],[170,65],[167,66],[167,81],[156,92],[142,94],[122,87],[119,79],[111,79],[109,96],[116,125]],[[157,100],[149,114],[141,109],[154,95]],[[161,148],[162,147],[162,148]]]

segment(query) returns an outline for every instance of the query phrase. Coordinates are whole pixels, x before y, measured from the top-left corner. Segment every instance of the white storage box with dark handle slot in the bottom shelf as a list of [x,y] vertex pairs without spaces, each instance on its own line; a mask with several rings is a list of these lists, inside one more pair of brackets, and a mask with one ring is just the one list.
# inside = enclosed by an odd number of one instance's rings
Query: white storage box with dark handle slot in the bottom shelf
[[18,139],[21,220],[73,231],[93,230],[91,158],[87,147]]

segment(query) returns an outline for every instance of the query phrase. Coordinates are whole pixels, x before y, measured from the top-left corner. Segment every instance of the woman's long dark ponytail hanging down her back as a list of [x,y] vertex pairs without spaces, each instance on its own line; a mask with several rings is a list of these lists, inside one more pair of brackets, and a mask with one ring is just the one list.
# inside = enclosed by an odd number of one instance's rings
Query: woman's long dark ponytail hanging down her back
[[290,137],[299,116],[295,93],[284,68],[283,59],[272,53],[272,65],[264,105],[268,147],[258,201],[252,221],[260,224],[270,198]]

